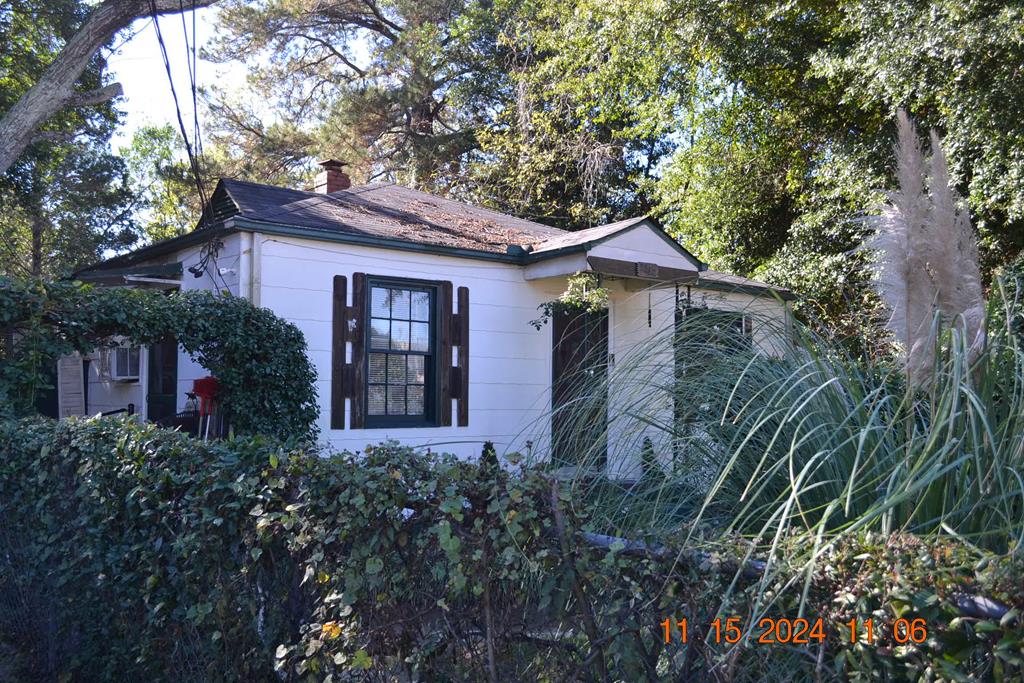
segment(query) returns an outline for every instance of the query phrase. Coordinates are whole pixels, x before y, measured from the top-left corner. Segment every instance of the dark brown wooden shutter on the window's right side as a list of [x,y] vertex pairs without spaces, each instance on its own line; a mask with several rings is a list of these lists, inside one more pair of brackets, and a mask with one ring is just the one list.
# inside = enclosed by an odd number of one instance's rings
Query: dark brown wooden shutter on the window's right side
[[[456,424],[466,427],[469,425],[469,289],[460,287],[458,290],[458,312],[452,307],[452,283],[443,282],[438,291],[440,407],[437,423],[445,427],[452,425],[452,400],[455,399]],[[453,350],[456,348],[459,349],[459,361],[453,365]]]

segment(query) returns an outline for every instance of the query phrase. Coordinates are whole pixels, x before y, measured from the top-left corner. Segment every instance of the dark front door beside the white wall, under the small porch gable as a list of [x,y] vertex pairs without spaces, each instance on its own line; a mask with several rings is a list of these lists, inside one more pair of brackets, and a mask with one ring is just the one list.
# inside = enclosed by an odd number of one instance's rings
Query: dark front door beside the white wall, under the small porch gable
[[608,424],[608,311],[552,316],[551,458],[604,469]]

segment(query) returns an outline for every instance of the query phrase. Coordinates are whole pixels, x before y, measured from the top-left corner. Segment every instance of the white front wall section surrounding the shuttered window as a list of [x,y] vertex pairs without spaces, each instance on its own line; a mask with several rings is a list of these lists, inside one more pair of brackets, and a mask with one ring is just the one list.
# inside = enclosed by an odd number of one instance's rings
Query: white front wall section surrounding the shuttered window
[[[292,238],[257,239],[260,303],[294,323],[306,337],[318,376],[319,427],[332,447],[360,451],[394,438],[476,457],[487,440],[502,453],[523,450],[527,440],[547,439],[551,327],[538,331],[529,322],[540,315],[542,302],[564,290],[564,279],[526,282],[521,267],[504,263]],[[447,280],[455,289],[469,288],[469,426],[330,429],[333,281],[335,275],[349,279],[351,303],[354,272]]]

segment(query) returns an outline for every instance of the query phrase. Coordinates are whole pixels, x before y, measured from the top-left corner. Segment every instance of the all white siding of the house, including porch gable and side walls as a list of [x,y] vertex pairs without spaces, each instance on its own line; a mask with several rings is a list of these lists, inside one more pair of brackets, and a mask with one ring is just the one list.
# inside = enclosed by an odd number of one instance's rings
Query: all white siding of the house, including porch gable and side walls
[[[522,451],[527,440],[535,454],[545,455],[550,441],[551,325],[535,330],[529,324],[540,315],[538,306],[558,297],[565,289],[563,276],[527,281],[527,269],[505,263],[453,258],[414,252],[342,245],[296,238],[270,237],[258,232],[239,233],[224,239],[217,262],[211,269],[223,274],[196,279],[187,271],[199,260],[199,247],[161,259],[161,263],[182,261],[182,290],[221,290],[248,296],[257,305],[294,323],[303,333],[309,356],[317,373],[315,388],[321,411],[322,439],[335,450],[360,451],[368,444],[397,439],[415,446],[476,457],[483,441],[494,441],[499,453]],[[621,260],[654,262],[676,268],[695,268],[695,263],[672,249],[663,238],[641,224],[623,236],[594,248],[591,255]],[[470,411],[469,426],[388,429],[330,429],[331,346],[333,280],[354,272],[383,278],[447,280],[455,288],[468,287],[470,300]],[[537,274],[536,272],[534,274]],[[675,287],[659,286],[636,290],[624,281],[611,279],[609,310],[609,352],[614,358],[612,395],[609,396],[609,473],[633,477],[639,474],[643,439],[650,436],[663,459],[671,449],[658,430],[630,421],[627,416],[643,404],[646,414],[671,420],[672,405],[658,382],[670,382],[674,354],[671,334],[674,323]],[[685,288],[681,288],[685,294]],[[767,297],[735,292],[690,289],[695,305],[723,310],[744,310],[780,322],[785,308]],[[453,305],[455,305],[453,303]],[[647,324],[650,306],[651,325]],[[768,352],[779,341],[766,330],[755,328],[755,342]],[[633,353],[647,349],[660,336],[664,347],[646,353],[643,367],[649,381],[616,386],[615,372],[625,364],[640,362]],[[116,384],[98,379],[98,362],[93,364],[89,387],[90,413],[123,408],[134,402],[144,412],[147,354],[142,353],[143,379],[136,384]],[[207,371],[179,349],[178,410],[193,380]],[[345,420],[349,423],[348,416]]]

